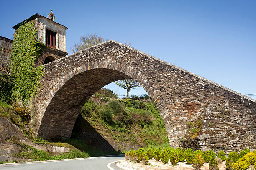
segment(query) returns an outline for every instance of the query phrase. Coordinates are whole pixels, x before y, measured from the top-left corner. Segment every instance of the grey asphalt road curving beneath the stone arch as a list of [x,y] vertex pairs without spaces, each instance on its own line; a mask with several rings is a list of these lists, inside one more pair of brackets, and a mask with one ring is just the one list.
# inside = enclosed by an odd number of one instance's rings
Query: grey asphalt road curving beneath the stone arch
[[[0,170],[109,170],[108,163],[123,160],[124,155],[61,160],[54,162],[0,165]],[[115,170],[120,170],[111,165]]]

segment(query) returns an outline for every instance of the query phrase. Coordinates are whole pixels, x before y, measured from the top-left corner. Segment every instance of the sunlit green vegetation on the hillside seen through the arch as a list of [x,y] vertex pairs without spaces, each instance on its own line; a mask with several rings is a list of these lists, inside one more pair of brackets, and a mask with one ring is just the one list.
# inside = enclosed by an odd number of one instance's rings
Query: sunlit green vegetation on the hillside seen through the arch
[[102,104],[89,100],[82,108],[81,115],[92,126],[104,126],[116,141],[133,141],[144,147],[168,143],[164,122],[154,102],[105,100],[108,102]]

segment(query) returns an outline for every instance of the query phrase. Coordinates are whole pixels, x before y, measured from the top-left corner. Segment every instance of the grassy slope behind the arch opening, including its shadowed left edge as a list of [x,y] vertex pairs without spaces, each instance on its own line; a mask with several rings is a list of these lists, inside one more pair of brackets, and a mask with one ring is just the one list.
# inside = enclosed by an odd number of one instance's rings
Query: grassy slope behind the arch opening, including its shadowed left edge
[[154,102],[107,98],[105,100],[97,103],[88,101],[84,105],[73,129],[72,138],[97,145],[97,139],[88,139],[88,135],[81,135],[90,131],[87,125],[89,124],[115,150],[124,151],[133,147],[168,143],[163,120]]

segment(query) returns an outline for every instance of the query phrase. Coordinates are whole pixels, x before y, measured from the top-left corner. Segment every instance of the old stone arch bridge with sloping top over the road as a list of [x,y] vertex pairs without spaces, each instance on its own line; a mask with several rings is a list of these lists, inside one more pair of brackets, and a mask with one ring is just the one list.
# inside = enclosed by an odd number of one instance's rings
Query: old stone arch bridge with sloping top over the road
[[200,149],[256,149],[255,100],[113,40],[45,65],[32,101],[35,134],[69,138],[84,103],[101,87],[129,78],[154,100],[172,147],[184,143],[193,128],[188,122],[200,120],[193,137]]

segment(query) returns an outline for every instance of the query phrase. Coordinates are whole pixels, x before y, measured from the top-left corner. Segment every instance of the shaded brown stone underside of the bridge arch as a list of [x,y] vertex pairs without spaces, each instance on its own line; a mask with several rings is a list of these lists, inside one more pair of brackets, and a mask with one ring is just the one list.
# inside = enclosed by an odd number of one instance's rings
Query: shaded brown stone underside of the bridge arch
[[131,77],[110,69],[93,69],[75,75],[54,95],[49,103],[38,137],[64,140],[70,137],[77,116],[84,103],[100,88],[111,82]]

